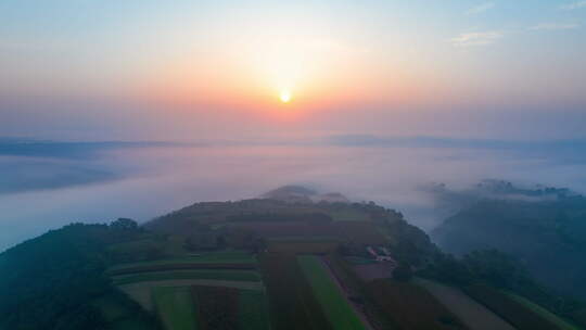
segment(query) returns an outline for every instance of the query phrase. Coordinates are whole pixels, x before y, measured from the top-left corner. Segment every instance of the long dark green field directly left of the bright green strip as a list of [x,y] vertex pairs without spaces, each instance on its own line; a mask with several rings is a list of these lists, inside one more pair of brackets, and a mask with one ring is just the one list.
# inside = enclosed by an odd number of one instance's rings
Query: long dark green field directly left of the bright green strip
[[294,256],[270,253],[263,255],[259,262],[275,329],[332,329]]

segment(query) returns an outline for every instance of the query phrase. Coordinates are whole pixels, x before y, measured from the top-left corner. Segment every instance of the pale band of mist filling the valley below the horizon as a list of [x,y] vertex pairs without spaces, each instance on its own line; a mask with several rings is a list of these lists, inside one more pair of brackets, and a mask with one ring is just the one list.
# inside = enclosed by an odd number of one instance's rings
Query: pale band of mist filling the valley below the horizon
[[335,137],[310,143],[110,145],[85,157],[2,155],[0,251],[73,221],[146,221],[194,202],[255,198],[290,183],[374,201],[431,231],[445,216],[421,189],[431,182],[462,188],[495,178],[585,192],[586,160],[574,148],[582,144],[562,144],[568,148]]

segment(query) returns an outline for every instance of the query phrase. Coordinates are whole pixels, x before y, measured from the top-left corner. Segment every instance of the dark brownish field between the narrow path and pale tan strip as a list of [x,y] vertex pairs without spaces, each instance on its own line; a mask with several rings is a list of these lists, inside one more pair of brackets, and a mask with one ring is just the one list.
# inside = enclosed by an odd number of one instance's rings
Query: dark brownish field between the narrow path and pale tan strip
[[419,285],[378,279],[366,287],[374,303],[391,319],[392,329],[467,329],[454,314]]

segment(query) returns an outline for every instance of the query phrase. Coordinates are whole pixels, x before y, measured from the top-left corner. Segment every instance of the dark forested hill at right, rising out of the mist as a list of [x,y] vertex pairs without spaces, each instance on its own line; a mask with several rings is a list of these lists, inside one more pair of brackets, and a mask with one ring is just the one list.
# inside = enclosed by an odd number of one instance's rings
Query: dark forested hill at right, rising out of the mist
[[432,232],[434,241],[459,255],[479,249],[510,253],[543,282],[586,297],[586,199],[566,189],[483,185],[438,192],[461,210]]

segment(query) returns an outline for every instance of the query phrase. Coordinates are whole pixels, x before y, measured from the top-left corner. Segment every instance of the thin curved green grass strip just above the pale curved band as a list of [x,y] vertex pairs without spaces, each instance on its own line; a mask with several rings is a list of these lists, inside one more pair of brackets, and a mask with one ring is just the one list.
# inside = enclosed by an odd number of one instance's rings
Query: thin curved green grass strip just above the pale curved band
[[202,269],[202,270],[170,270],[170,271],[152,271],[140,272],[135,275],[118,276],[114,278],[115,285],[123,285],[136,282],[145,281],[162,281],[177,279],[208,279],[208,280],[226,280],[226,281],[260,281],[260,276],[252,270],[218,270],[218,269]]

